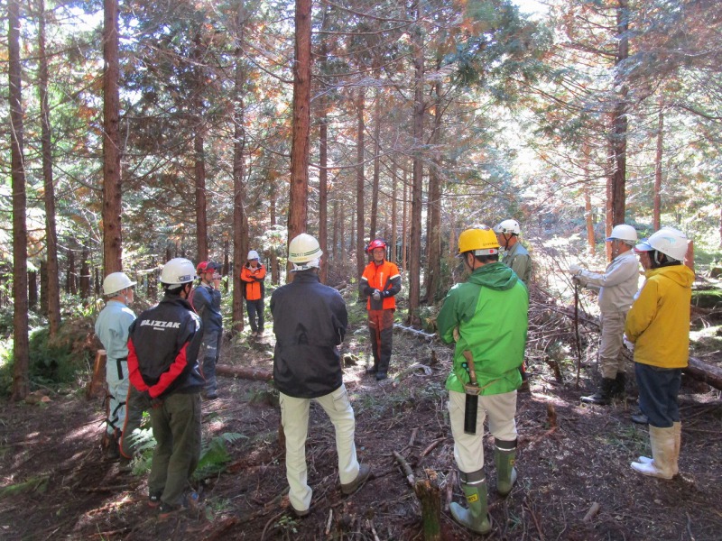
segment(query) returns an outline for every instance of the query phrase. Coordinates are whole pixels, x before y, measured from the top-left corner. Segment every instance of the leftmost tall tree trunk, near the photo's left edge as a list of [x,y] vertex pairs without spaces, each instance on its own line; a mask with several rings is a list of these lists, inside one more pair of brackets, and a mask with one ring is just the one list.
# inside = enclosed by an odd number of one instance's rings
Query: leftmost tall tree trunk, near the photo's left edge
[[28,230],[25,223],[25,160],[23,132],[23,67],[20,60],[20,3],[7,3],[7,49],[10,102],[10,162],[13,184],[13,393],[23,400],[29,390]]

